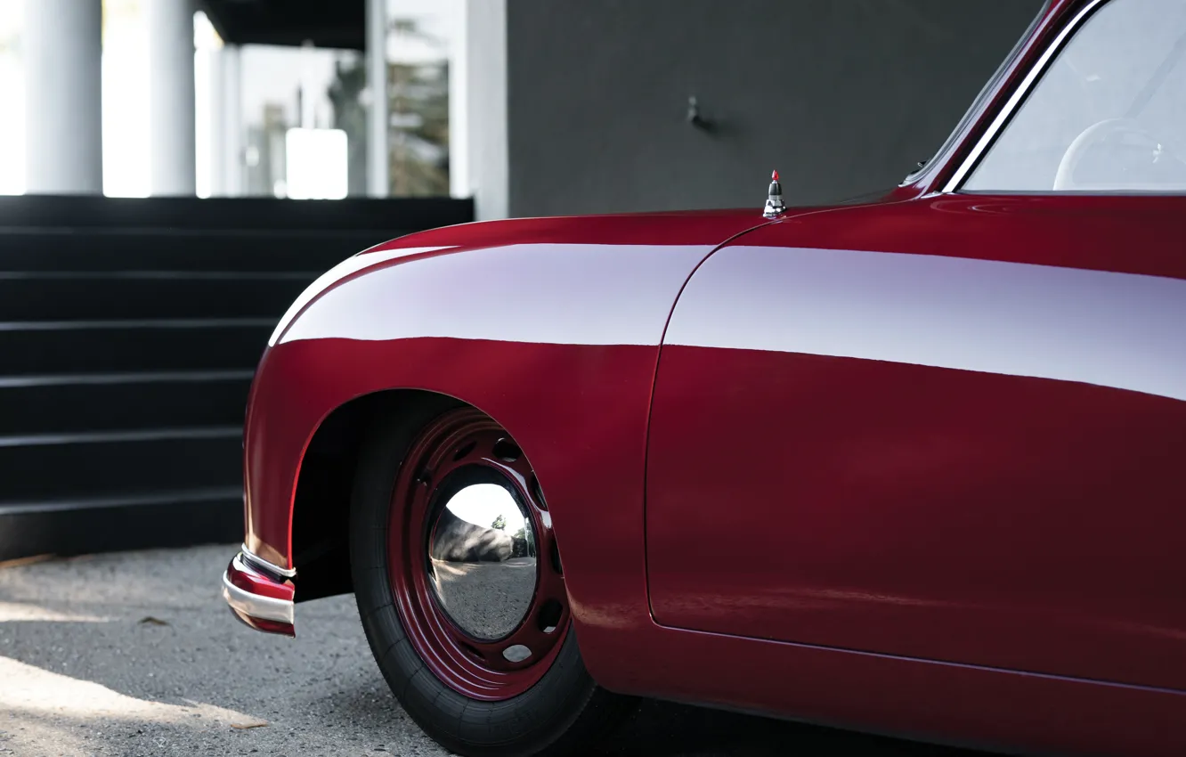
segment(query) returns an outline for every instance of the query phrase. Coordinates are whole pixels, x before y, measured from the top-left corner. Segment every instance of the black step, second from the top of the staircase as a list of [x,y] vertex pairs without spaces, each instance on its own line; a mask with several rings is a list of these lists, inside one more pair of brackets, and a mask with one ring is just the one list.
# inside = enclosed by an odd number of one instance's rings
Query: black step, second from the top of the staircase
[[384,231],[0,227],[0,271],[321,273],[389,238]]

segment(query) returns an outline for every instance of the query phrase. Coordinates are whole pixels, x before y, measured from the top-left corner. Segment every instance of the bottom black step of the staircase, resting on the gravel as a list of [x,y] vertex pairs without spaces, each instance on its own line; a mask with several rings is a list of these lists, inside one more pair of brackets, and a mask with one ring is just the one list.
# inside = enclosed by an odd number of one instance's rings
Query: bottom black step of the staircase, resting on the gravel
[[203,543],[228,545],[230,560],[242,540],[241,486],[0,502],[0,560]]

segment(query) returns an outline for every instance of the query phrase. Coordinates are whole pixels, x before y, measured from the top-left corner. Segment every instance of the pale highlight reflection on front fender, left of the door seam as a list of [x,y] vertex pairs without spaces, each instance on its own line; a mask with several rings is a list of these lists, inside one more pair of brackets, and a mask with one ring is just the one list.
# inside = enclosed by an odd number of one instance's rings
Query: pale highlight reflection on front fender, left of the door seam
[[512,244],[395,262],[325,291],[280,341],[658,344],[680,287],[712,249]]

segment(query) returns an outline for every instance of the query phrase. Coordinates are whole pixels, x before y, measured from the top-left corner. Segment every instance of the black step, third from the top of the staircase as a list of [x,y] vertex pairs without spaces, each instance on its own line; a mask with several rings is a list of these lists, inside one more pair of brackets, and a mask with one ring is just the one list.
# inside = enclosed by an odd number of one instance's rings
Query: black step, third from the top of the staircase
[[268,317],[279,320],[313,278],[0,274],[0,322]]

